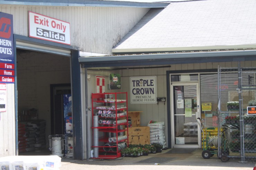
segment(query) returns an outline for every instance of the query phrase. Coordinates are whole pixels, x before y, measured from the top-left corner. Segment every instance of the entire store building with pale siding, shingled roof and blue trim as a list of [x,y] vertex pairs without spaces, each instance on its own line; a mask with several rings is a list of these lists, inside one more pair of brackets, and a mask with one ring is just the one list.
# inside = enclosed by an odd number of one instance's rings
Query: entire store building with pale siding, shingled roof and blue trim
[[[234,1],[72,2],[38,6],[29,1],[0,1],[0,11],[13,15],[15,51],[15,82],[7,84],[8,109],[0,113],[0,134],[8,137],[8,142],[1,141],[0,156],[19,154],[18,124],[27,121],[29,111],[37,110],[38,119],[46,120],[46,148],[49,135],[64,134],[62,100],[72,96],[73,159],[90,158],[91,94],[100,92],[99,77],[106,82],[104,92],[128,92],[128,111],[142,111],[141,126],[150,120],[165,122],[168,148],[201,148],[199,127],[186,131],[185,123],[196,124],[200,117],[205,126],[217,126],[218,67],[238,67],[238,62],[241,67],[255,66],[256,39],[250,31],[256,22],[255,2],[239,4],[246,10],[238,11],[238,16],[247,17],[236,22],[232,22],[238,6]],[[220,3],[222,12],[217,10]],[[29,14],[38,17],[30,21]],[[239,24],[245,18],[249,26]],[[45,31],[30,33],[34,27],[44,29],[47,19],[62,23],[58,27],[62,34],[56,34],[56,39],[61,39],[68,23],[70,34],[65,36],[70,36],[70,42],[36,37]],[[39,26],[33,27],[32,22]],[[48,38],[55,37],[51,33]],[[109,89],[110,74],[121,76],[120,89]],[[132,88],[136,86],[132,81],[148,77],[156,82],[155,96]],[[223,84],[229,98],[221,107],[234,101],[237,73],[231,77]],[[141,97],[136,98],[138,93]],[[207,103],[211,108],[204,106]],[[190,132],[193,135],[184,135]]]

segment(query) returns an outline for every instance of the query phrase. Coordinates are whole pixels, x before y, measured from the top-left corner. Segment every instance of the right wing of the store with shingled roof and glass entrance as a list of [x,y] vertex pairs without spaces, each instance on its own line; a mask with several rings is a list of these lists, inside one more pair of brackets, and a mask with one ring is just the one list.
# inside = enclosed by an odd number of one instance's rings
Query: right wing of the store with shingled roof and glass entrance
[[[169,148],[201,148],[201,129],[196,119],[200,118],[205,127],[218,127],[225,124],[226,117],[237,117],[239,111],[230,112],[227,105],[242,101],[238,92],[238,66],[254,68],[255,40],[249,33],[251,25],[239,23],[244,20],[241,16],[253,12],[250,7],[255,7],[255,3],[245,2],[241,6],[248,8],[237,11],[236,21],[231,12],[238,7],[234,1],[172,2],[164,9],[151,9],[112,48],[115,55],[80,57],[79,61],[85,72],[104,69],[106,65],[110,67],[106,69],[112,67],[112,72],[119,70],[124,82],[121,91],[130,93],[129,109],[143,111],[142,126],[147,126],[150,120],[165,122]],[[219,68],[230,70],[222,75],[221,84]],[[255,88],[254,72],[248,71],[240,78],[250,88]],[[151,76],[157,80],[156,98],[145,94],[146,89],[136,91],[144,96],[135,98],[132,78],[144,81]],[[240,107],[243,115],[247,115],[249,100],[255,99],[255,89],[251,90],[244,93],[246,97]],[[218,109],[226,111],[219,120]],[[248,143],[253,146],[252,141]]]

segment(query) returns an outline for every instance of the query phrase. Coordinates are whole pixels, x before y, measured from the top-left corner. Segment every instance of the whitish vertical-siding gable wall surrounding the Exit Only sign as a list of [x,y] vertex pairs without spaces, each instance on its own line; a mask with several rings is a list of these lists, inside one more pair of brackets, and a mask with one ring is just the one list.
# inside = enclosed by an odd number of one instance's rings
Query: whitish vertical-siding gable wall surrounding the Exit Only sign
[[71,46],[80,51],[111,54],[111,48],[147,13],[149,8],[50,7],[1,5],[13,15],[14,33],[28,36],[28,11],[70,23]]

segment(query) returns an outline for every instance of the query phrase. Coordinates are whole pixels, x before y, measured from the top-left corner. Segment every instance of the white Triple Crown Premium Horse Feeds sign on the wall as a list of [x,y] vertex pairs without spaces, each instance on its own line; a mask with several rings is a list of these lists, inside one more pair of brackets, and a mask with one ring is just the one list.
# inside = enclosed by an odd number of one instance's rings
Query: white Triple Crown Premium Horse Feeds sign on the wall
[[132,104],[157,103],[156,76],[130,77],[130,98]]

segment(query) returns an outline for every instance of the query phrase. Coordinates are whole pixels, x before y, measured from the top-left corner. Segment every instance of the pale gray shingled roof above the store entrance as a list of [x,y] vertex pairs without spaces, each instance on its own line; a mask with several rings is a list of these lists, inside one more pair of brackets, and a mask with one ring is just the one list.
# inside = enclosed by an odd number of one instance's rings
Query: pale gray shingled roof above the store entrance
[[255,16],[255,0],[172,2],[149,10],[112,52],[256,47]]

